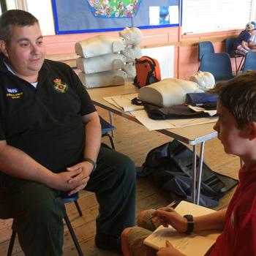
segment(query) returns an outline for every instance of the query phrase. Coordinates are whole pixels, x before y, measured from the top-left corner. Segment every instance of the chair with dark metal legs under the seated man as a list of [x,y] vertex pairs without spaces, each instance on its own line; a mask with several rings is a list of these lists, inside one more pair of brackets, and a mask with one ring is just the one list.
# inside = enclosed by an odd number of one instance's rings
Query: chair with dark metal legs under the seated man
[[[61,192],[60,194],[62,200],[63,200],[63,203],[66,204],[66,203],[75,203],[75,206],[77,207],[78,209],[78,213],[80,216],[83,216],[83,213],[80,209],[80,206],[78,204],[78,193],[75,193],[74,195],[67,195],[67,192]],[[75,248],[78,250],[78,255],[79,256],[83,256],[83,252],[82,252],[82,249],[80,248],[80,244],[78,242],[78,238],[75,236],[75,232],[73,230],[73,227],[71,225],[71,222],[69,220],[69,217],[67,216],[67,213],[65,214],[64,216],[64,220],[67,224],[67,228],[69,230],[69,233],[72,237],[72,240],[75,244]],[[12,249],[13,249],[13,246],[14,246],[14,242],[15,242],[15,237],[16,237],[16,225],[15,225],[15,219],[13,219],[13,222],[12,222],[12,236],[11,236],[11,239],[10,239],[10,244],[9,244],[9,248],[8,248],[8,252],[7,252],[7,256],[11,256],[12,255]]]

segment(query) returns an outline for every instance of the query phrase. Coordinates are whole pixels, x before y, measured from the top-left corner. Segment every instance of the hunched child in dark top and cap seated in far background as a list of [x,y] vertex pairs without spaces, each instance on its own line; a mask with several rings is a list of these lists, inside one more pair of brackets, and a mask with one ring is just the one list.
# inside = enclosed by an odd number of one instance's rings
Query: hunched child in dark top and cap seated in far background
[[242,56],[246,56],[251,49],[248,46],[249,37],[251,36],[251,31],[254,29],[252,23],[247,23],[245,29],[238,34],[236,41],[233,45],[233,51]]

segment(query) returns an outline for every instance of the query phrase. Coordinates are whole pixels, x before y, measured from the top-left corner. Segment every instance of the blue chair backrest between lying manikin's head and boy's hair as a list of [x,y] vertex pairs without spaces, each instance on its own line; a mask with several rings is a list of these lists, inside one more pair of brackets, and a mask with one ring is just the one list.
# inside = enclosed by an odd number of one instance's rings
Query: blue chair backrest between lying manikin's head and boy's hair
[[210,72],[216,81],[233,78],[230,56],[227,53],[205,53],[199,70]]

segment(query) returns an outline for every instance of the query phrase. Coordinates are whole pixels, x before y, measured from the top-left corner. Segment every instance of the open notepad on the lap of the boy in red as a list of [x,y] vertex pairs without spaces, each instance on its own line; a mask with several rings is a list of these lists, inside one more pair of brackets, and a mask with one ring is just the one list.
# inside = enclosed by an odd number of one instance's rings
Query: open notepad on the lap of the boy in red
[[[176,211],[181,216],[185,214],[192,214],[200,216],[203,214],[210,214],[214,210],[203,206],[197,206],[193,203],[181,201],[176,207]],[[165,241],[169,240],[176,249],[187,256],[200,256],[205,255],[208,249],[215,243],[217,237],[220,235],[219,230],[200,231],[186,235],[178,233],[173,227],[160,226],[150,236],[144,240],[144,244],[154,249],[165,247]]]

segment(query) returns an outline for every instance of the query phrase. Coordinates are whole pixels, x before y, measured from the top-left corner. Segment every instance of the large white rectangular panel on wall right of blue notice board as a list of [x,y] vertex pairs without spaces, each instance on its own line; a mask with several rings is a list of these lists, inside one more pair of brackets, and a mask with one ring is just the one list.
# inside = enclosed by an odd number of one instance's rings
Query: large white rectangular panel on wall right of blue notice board
[[244,29],[255,0],[183,0],[182,34]]

